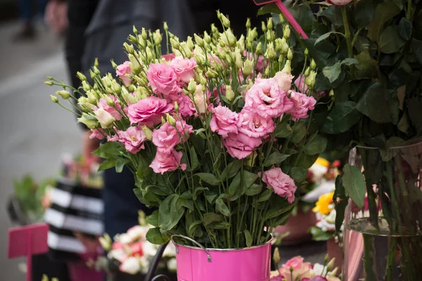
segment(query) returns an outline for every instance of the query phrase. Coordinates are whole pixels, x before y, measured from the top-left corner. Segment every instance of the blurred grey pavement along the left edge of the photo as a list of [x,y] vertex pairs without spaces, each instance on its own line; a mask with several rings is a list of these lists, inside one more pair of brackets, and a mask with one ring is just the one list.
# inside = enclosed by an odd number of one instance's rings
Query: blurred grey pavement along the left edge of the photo
[[13,281],[25,280],[24,260],[6,256],[13,178],[56,175],[61,153],[77,152],[82,140],[74,117],[51,103],[53,89],[43,84],[47,75],[67,79],[62,40],[40,28],[36,40],[13,44],[17,31],[16,22],[0,26],[0,280]]

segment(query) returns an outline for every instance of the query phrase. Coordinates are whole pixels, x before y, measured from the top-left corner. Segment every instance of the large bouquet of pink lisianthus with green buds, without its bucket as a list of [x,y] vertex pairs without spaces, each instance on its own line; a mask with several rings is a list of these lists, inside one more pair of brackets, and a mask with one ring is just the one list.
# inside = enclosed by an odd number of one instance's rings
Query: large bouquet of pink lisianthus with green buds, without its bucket
[[[179,41],[165,24],[164,57],[160,30],[134,28],[124,43],[129,60],[112,62],[119,79],[101,77],[95,63],[91,82],[79,73],[82,86],[72,89],[86,93],[77,100],[79,122],[106,139],[95,152],[105,158],[100,169],[128,165],[136,196],[159,207],[146,219],[153,243],[174,234],[221,249],[267,242],[326,147],[309,119],[316,64],[289,45],[290,27],[281,18],[276,32],[270,18],[258,37],[248,21],[236,38],[229,19],[217,15],[223,30],[212,25],[195,42]],[[46,84],[73,99],[65,84]]]

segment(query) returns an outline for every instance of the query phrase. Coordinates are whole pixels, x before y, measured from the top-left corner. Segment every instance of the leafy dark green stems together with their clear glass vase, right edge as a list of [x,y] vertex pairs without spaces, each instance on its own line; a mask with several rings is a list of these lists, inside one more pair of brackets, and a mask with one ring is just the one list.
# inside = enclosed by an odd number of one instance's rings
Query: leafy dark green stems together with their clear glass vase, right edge
[[[421,3],[329,2],[299,1],[291,10],[309,34],[302,43],[322,69],[315,90],[333,97],[328,115],[321,115],[327,150],[347,157],[357,147],[334,194],[338,229],[346,210],[346,259],[347,251],[364,249],[363,256],[345,261],[344,276],[419,280]],[[316,13],[308,4],[316,5]],[[363,208],[365,197],[368,214],[357,216],[352,210]],[[361,233],[363,239],[355,239]]]

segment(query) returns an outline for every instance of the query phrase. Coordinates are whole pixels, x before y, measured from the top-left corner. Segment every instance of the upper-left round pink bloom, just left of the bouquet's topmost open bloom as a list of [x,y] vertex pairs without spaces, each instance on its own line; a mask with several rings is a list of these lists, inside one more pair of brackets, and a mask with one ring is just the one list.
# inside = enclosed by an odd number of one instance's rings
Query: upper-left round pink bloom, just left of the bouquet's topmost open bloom
[[181,92],[180,87],[177,85],[177,74],[170,65],[151,63],[146,76],[153,92],[158,95],[167,96]]

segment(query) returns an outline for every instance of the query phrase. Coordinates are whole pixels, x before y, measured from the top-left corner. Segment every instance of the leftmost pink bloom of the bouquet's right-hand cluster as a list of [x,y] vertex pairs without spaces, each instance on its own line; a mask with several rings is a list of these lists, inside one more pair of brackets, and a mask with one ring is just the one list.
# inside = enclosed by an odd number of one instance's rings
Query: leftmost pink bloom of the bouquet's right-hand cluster
[[210,120],[210,129],[217,132],[221,136],[226,136],[228,133],[238,133],[238,114],[225,107],[219,105],[212,108],[214,113]]

